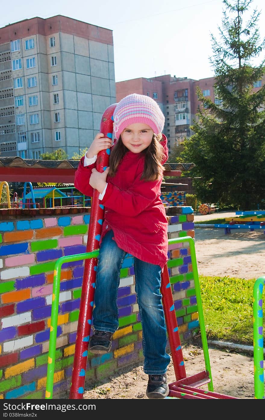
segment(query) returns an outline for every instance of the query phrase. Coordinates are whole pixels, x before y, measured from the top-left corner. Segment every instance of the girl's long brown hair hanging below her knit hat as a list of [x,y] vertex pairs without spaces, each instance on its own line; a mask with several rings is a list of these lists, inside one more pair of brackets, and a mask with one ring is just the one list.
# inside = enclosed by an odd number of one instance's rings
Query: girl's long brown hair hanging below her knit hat
[[[145,181],[155,181],[156,179],[163,177],[164,168],[161,162],[164,157],[164,148],[160,144],[160,139],[162,139],[161,134],[153,134],[152,142],[146,149],[141,152],[145,156],[144,171],[142,173],[141,179],[144,179]],[[110,170],[108,176],[115,175],[121,159],[126,155],[127,152],[128,149],[126,146],[124,146],[120,136],[110,153]]]

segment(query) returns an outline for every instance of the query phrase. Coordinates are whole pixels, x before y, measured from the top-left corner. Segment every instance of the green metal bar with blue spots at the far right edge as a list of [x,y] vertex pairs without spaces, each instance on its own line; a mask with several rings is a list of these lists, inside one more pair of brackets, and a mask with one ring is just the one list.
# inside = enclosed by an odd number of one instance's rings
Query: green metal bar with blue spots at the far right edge
[[253,287],[253,349],[255,398],[264,399],[264,350],[262,291],[265,276],[257,278]]

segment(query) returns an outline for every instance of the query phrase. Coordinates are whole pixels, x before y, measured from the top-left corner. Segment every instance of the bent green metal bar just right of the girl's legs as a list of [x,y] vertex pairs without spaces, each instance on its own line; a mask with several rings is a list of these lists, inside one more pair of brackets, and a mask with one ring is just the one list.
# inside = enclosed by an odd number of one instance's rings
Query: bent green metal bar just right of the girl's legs
[[198,275],[194,240],[192,239],[191,236],[183,236],[182,238],[169,239],[168,245],[179,244],[182,242],[189,242],[189,248],[190,248],[191,259],[192,259],[192,270],[193,270],[193,275],[194,275],[195,294],[196,294],[198,314],[199,314],[199,326],[200,326],[200,332],[201,332],[201,337],[202,337],[202,349],[203,349],[203,354],[204,354],[205,369],[209,372],[209,378],[210,378],[210,382],[208,383],[208,389],[209,391],[213,391],[213,379],[212,379],[211,366],[210,366],[207,336],[206,336],[206,331],[205,331],[205,322],[204,322],[203,309],[202,309],[202,298],[201,298],[201,291],[200,291],[200,286],[199,286],[199,275]]

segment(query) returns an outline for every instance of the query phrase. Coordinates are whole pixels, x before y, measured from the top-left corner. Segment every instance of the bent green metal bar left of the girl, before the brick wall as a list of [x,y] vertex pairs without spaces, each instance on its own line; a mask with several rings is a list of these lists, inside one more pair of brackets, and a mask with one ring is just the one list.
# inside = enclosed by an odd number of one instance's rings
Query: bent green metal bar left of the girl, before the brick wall
[[95,251],[92,251],[92,252],[84,252],[83,254],[75,254],[75,255],[68,255],[66,257],[60,257],[55,263],[53,289],[52,289],[52,314],[51,314],[51,325],[50,325],[50,342],[49,342],[49,353],[48,353],[48,364],[47,364],[47,382],[46,382],[45,399],[52,399],[53,375],[54,375],[54,367],[55,367],[56,336],[57,336],[57,326],[58,326],[60,278],[61,278],[62,265],[66,262],[86,260],[87,258],[95,258],[98,255],[99,255],[99,250],[96,249]]

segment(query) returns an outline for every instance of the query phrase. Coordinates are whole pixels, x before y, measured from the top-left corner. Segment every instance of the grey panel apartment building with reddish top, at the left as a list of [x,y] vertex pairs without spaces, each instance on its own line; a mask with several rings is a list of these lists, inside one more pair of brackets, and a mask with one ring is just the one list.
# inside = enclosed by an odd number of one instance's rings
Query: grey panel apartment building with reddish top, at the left
[[66,16],[0,28],[0,155],[89,146],[116,102],[113,35]]

